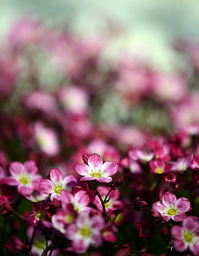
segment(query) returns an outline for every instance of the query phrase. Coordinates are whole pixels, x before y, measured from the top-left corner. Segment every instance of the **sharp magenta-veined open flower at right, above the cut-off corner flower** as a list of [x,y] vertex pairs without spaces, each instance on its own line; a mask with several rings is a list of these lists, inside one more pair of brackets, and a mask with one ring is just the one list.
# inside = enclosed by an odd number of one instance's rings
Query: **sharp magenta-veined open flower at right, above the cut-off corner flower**
[[166,192],[162,201],[154,203],[152,209],[157,210],[163,217],[163,220],[170,220],[171,218],[177,222],[181,222],[186,218],[185,212],[190,208],[190,202],[185,197],[177,197],[169,192]]

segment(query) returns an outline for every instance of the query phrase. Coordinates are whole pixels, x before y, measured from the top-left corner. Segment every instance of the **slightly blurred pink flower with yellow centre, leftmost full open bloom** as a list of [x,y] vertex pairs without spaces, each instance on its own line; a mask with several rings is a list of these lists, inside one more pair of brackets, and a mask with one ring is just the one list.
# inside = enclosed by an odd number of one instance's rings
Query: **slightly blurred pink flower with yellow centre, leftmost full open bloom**
[[38,191],[38,184],[42,176],[37,174],[37,166],[34,161],[12,162],[9,167],[12,176],[5,178],[5,183],[10,186],[17,186],[17,190],[23,196]]

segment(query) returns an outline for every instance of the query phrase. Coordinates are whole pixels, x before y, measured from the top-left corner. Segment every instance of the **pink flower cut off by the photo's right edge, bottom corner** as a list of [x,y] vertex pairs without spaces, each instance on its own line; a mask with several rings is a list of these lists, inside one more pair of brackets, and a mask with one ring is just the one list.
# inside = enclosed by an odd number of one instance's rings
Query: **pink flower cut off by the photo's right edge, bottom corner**
[[194,256],[199,255],[199,222],[194,216],[188,216],[181,226],[173,226],[171,233],[174,236],[173,246],[178,252],[189,248]]

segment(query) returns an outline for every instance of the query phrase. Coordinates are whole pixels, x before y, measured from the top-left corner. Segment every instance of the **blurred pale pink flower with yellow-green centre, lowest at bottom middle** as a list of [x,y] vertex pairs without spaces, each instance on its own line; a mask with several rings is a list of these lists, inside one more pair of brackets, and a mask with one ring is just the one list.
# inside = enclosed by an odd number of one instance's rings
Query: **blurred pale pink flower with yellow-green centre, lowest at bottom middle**
[[100,216],[89,218],[81,214],[76,222],[66,227],[66,238],[72,240],[71,246],[74,252],[82,254],[89,246],[99,247],[102,244],[101,231],[104,228],[104,220]]

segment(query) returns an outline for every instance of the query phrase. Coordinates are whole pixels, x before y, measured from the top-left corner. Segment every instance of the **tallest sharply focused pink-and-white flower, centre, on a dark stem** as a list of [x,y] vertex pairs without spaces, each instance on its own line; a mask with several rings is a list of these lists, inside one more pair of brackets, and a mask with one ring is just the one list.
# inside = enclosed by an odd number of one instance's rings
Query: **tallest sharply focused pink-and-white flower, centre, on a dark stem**
[[118,171],[118,164],[113,161],[104,162],[98,154],[93,154],[88,158],[88,165],[77,164],[75,170],[78,174],[85,176],[80,181],[97,180],[99,182],[109,183]]

